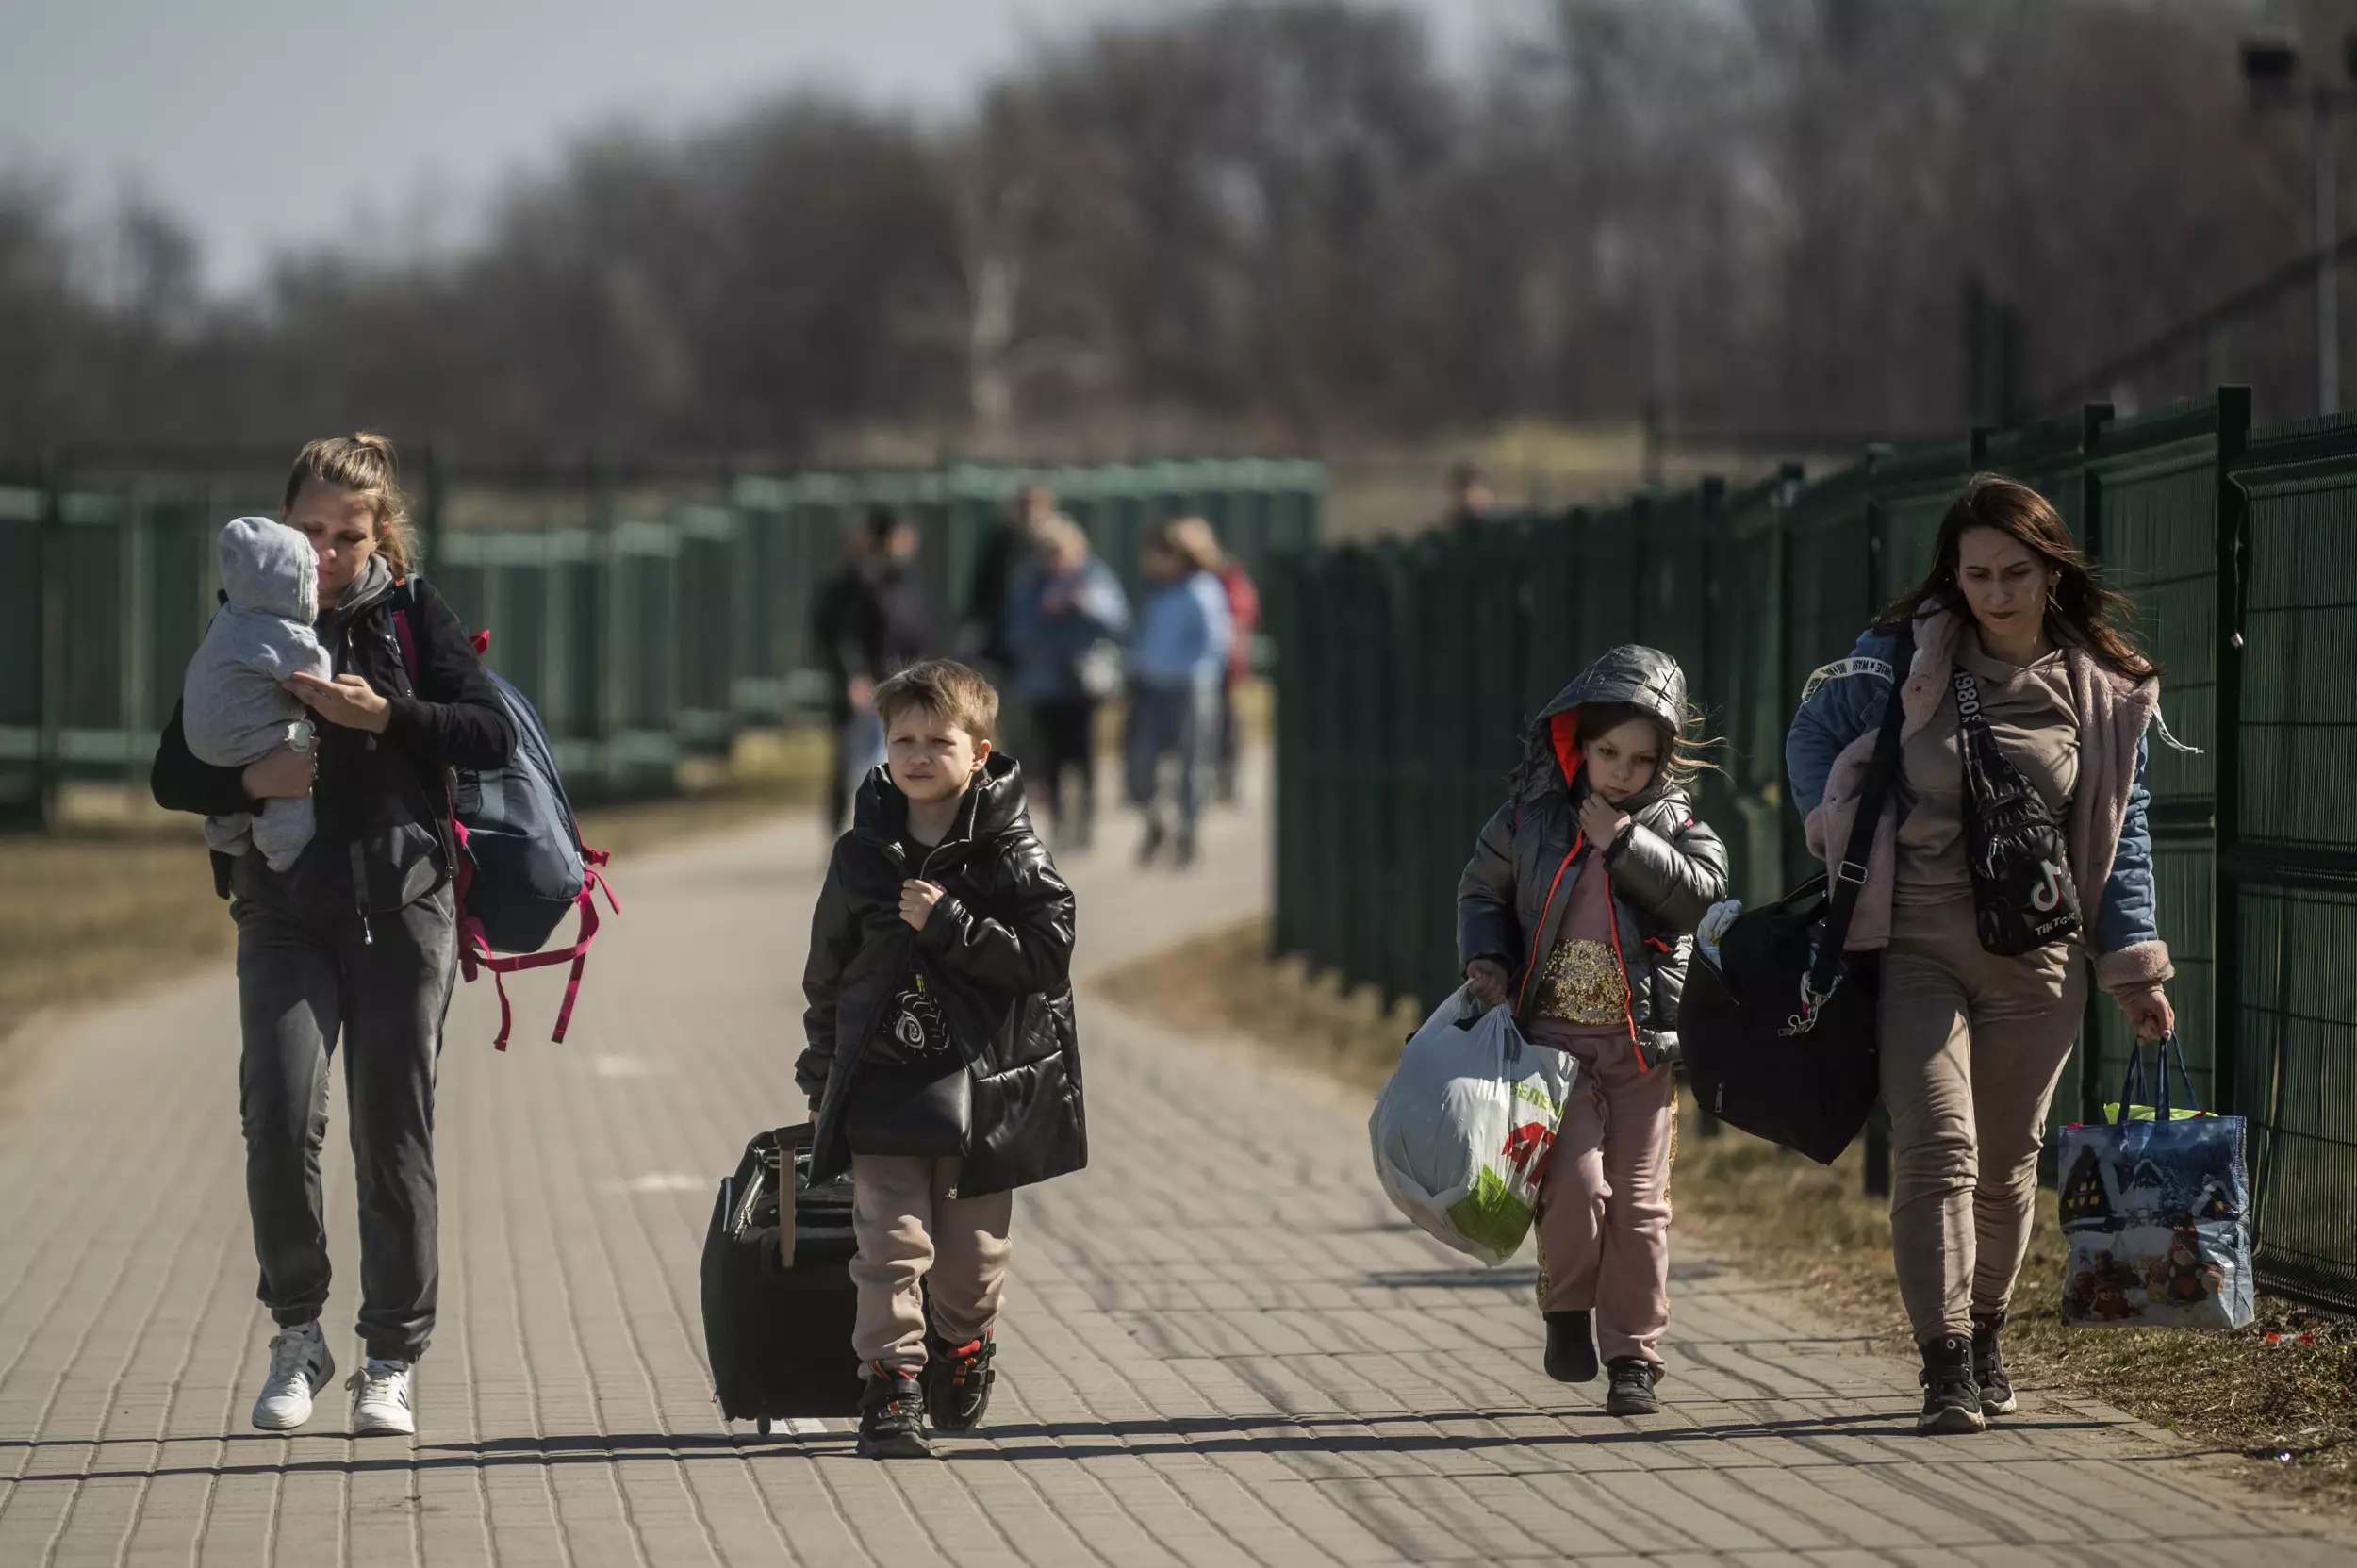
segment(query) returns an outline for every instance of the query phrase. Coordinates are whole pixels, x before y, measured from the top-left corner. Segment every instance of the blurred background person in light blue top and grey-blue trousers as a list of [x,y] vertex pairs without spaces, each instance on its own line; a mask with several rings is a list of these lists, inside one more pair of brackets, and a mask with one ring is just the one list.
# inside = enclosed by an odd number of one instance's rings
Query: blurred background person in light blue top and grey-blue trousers
[[1216,556],[1207,554],[1202,535],[1164,523],[1148,540],[1143,566],[1153,587],[1129,648],[1129,804],[1146,816],[1138,865],[1150,865],[1171,839],[1171,825],[1162,816],[1162,764],[1176,762],[1174,854],[1183,868],[1195,863],[1200,849],[1204,764],[1219,729],[1219,693],[1235,627],[1228,589],[1214,571]]

